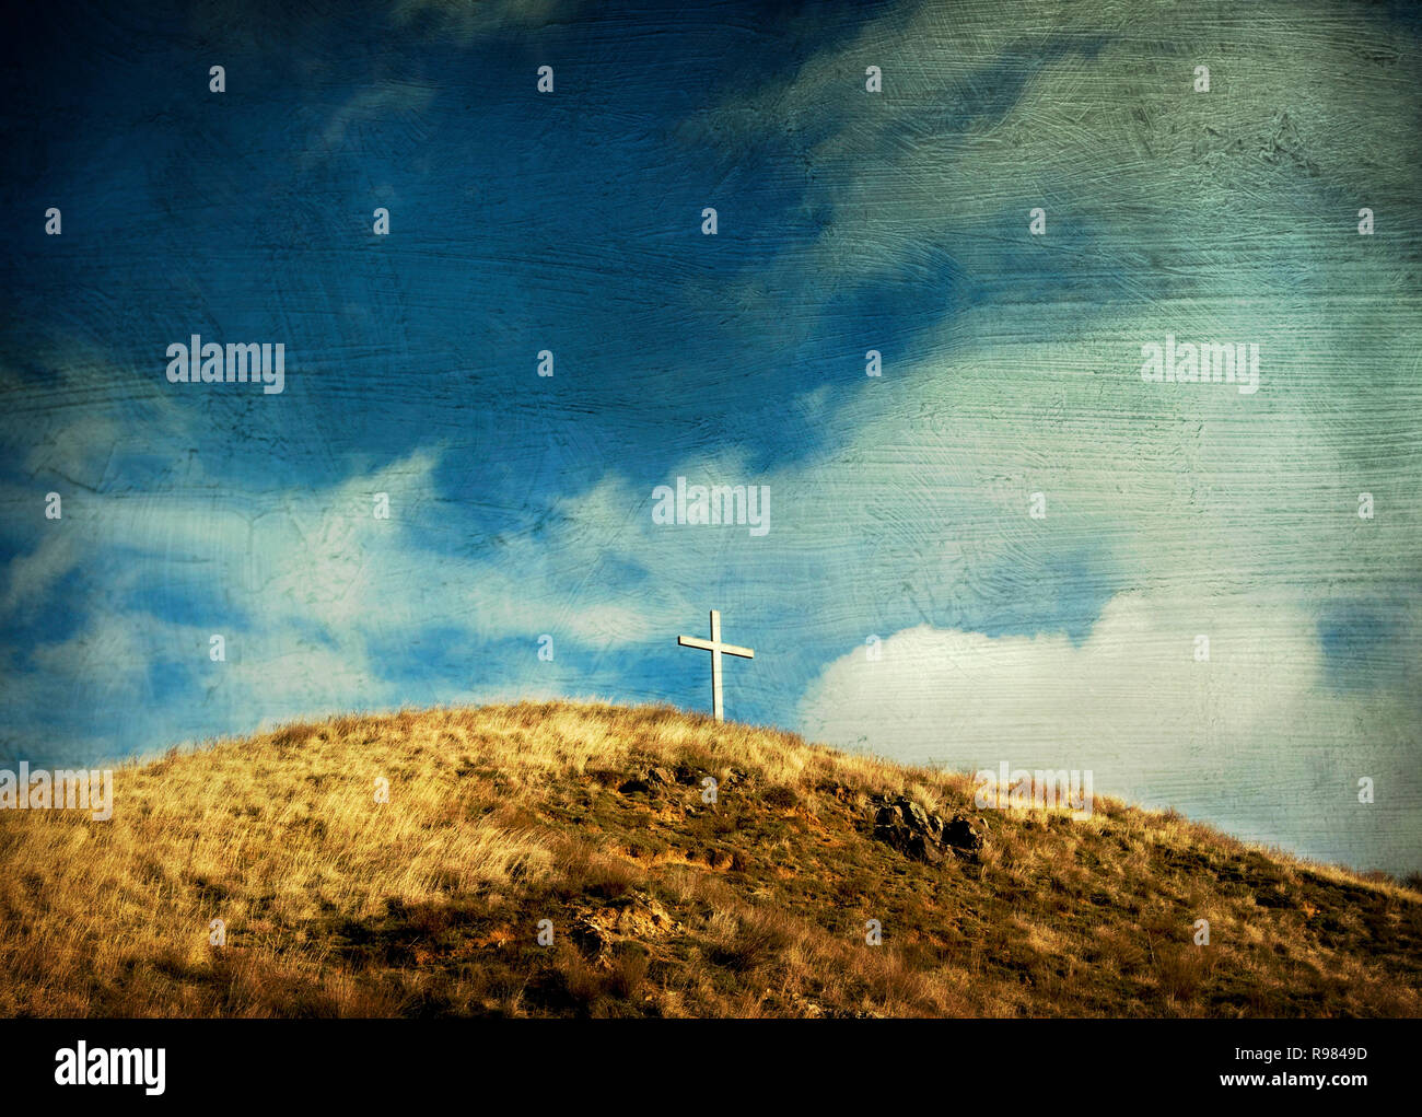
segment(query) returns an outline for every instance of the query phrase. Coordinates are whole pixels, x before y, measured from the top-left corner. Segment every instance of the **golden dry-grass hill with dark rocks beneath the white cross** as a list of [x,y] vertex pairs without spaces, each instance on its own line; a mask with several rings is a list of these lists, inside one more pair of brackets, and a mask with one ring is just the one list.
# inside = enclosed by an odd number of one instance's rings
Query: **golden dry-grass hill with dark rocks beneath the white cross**
[[[664,707],[287,726],[121,768],[114,803],[0,812],[0,1013],[1422,1012],[1396,882],[1112,801],[981,812],[967,775]],[[954,817],[981,848],[937,864],[876,831]]]

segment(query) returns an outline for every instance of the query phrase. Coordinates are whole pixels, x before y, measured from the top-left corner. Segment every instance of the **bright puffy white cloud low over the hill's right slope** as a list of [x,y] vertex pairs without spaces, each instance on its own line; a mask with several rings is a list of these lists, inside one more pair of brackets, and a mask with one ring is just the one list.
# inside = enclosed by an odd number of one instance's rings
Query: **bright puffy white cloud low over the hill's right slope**
[[[1415,711],[1324,684],[1317,622],[1267,596],[1123,593],[1065,636],[907,629],[808,689],[803,731],[951,768],[1078,768],[1095,793],[1175,805],[1330,859],[1422,859]],[[1405,618],[1415,646],[1416,618]],[[1209,636],[1209,662],[1194,657]],[[1357,801],[1376,781],[1378,803]]]

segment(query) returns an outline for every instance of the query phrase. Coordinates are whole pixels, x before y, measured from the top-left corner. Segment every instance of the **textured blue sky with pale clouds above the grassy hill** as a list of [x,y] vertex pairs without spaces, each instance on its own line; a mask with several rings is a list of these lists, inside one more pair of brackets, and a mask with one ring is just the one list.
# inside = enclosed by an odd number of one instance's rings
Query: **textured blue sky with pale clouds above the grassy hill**
[[1422,868],[1405,7],[137,9],[7,17],[0,764],[704,710],[720,609],[731,719]]

